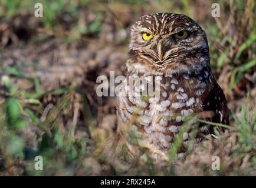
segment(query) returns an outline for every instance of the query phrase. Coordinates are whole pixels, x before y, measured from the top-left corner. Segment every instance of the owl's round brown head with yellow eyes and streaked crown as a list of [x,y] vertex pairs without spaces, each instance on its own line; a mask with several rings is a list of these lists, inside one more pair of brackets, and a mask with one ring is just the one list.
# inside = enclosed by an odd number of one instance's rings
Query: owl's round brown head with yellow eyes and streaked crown
[[186,15],[142,16],[132,26],[128,69],[143,73],[184,73],[209,66],[202,28]]

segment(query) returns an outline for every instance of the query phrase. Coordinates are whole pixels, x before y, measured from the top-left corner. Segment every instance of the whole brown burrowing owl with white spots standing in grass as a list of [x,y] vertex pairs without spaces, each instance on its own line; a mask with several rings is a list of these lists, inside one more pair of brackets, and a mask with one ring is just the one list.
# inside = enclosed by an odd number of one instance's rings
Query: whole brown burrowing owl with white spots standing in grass
[[[205,120],[228,124],[227,102],[211,71],[206,34],[191,18],[171,13],[142,16],[132,26],[129,50],[128,74],[117,108],[118,128],[138,133],[139,144],[152,157],[168,156],[188,115],[211,112]],[[142,96],[145,86],[138,90],[128,81],[141,77],[160,95]],[[197,142],[214,133],[213,126],[205,123],[197,129]],[[180,157],[190,131],[183,133]]]

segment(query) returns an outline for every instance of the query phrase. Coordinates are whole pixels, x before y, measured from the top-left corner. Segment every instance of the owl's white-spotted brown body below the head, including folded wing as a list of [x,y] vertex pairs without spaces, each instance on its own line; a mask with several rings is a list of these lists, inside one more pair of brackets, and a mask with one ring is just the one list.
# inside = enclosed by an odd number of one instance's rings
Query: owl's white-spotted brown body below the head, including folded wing
[[[129,79],[142,77],[146,80],[147,86],[152,85],[155,91],[158,88],[160,95],[145,97],[142,95],[141,85],[140,89],[129,85]],[[119,122],[122,122],[119,123],[119,129],[128,126],[137,132],[141,137],[140,146],[149,149],[155,159],[168,158],[168,151],[180,128],[187,121],[188,115],[209,112],[210,117],[202,118],[212,122],[228,123],[225,96],[208,68],[198,73],[175,75],[142,75],[131,72],[124,83],[126,86],[119,98],[117,110]],[[195,122],[192,121],[191,126],[193,123]],[[190,131],[191,127],[183,134],[183,145],[178,151],[179,157],[185,155]],[[196,142],[200,142],[204,135],[213,131],[211,125],[201,123],[196,134]]]

